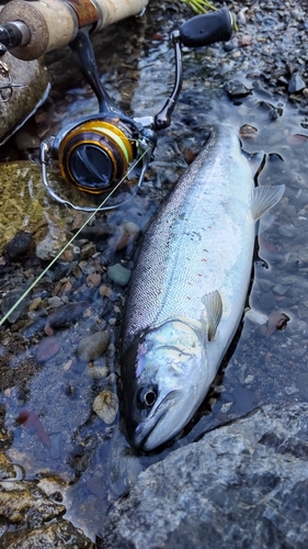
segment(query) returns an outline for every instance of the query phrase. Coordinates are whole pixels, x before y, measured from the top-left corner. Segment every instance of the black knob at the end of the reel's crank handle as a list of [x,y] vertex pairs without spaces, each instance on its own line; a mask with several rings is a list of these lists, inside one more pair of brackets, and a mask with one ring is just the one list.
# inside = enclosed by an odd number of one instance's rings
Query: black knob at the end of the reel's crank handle
[[180,29],[181,42],[184,46],[208,46],[215,42],[228,42],[236,26],[235,16],[221,8],[214,13],[196,15],[186,21]]

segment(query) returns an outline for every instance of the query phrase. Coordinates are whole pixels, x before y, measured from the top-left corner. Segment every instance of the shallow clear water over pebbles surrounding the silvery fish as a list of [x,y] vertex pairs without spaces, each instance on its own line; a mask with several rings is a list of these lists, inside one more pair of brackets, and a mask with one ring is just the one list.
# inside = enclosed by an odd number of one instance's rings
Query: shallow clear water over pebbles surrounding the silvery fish
[[[174,26],[176,12],[168,12],[169,23],[161,22],[155,9],[146,21],[137,21],[122,31],[111,30],[109,40],[95,37],[95,53],[107,90],[123,109],[136,116],[155,114],[164,102],[173,83],[173,52],[168,31]],[[124,47],[119,47],[121,36]],[[129,38],[129,40],[128,40]],[[53,63],[52,63],[53,61]],[[57,69],[57,59],[50,59],[50,70]],[[49,113],[49,134],[78,116],[93,112],[96,102],[89,87],[78,81],[67,57],[67,72],[55,78],[54,107]],[[284,330],[269,335],[266,325],[259,326],[244,320],[227,359],[215,380],[210,393],[191,422],[182,438],[161,452],[137,456],[127,446],[121,432],[118,414],[107,425],[92,411],[94,397],[103,390],[116,391],[118,374],[116,349],[121,330],[123,289],[112,283],[105,272],[102,256],[110,250],[110,262],[123,261],[133,267],[133,248],[114,251],[107,238],[94,259],[84,260],[80,268],[61,272],[55,265],[26,300],[24,315],[27,326],[7,325],[1,334],[1,388],[5,410],[4,429],[8,456],[24,469],[25,479],[56,480],[67,505],[67,518],[94,538],[102,528],[105,514],[133,485],[137,473],[168,452],[197,439],[203,433],[243,415],[265,402],[295,402],[308,399],[306,345],[308,341],[308,184],[306,115],[284,94],[271,96],[250,70],[232,72],[251,93],[231,101],[224,91],[230,74],[217,71],[228,65],[224,48],[184,51],[184,86],[172,125],[159,135],[152,163],[141,195],[116,211],[98,214],[94,226],[109,223],[116,227],[124,221],[134,221],[144,229],[159,203],[183,172],[185,160],[192,159],[202,146],[213,123],[228,123],[240,132],[244,125],[254,130],[241,132],[244,150],[264,150],[266,164],[259,176],[259,184],[286,186],[282,201],[260,224],[259,249],[253,267],[253,283],[248,303],[270,316],[273,311],[285,313],[290,320]],[[59,90],[66,90],[61,96]],[[48,199],[49,200],[49,199]],[[59,216],[67,220],[71,212],[59,208]],[[69,224],[69,222],[67,222]],[[70,221],[70,223],[72,223]],[[112,237],[112,235],[110,236]],[[87,233],[78,236],[81,246]],[[90,239],[90,237],[89,237]],[[39,264],[39,262],[38,262]],[[2,271],[3,294],[10,284],[25,288],[26,280],[38,274],[42,266],[23,264],[9,273]],[[47,266],[47,264],[43,264]],[[107,264],[106,264],[107,265]],[[111,298],[98,287],[85,283],[94,272],[101,283],[112,290]],[[5,279],[7,276],[7,279]],[[58,284],[58,285],[57,285]],[[57,287],[57,290],[55,290]],[[45,293],[44,293],[45,292]],[[84,301],[84,314],[71,325],[56,326],[55,337],[59,352],[45,362],[37,362],[37,346],[47,338],[43,328],[52,307],[47,299],[59,295],[62,303]],[[45,316],[28,315],[26,310],[36,296],[43,296]],[[26,316],[27,315],[27,316]],[[111,344],[106,354],[93,365],[78,360],[76,350],[80,339],[100,329],[109,332]],[[104,373],[103,373],[104,372]],[[43,425],[25,428],[16,423],[23,410],[34,412]],[[47,434],[47,438],[45,437]],[[49,441],[48,441],[49,440]],[[54,485],[54,484],[53,484]]]

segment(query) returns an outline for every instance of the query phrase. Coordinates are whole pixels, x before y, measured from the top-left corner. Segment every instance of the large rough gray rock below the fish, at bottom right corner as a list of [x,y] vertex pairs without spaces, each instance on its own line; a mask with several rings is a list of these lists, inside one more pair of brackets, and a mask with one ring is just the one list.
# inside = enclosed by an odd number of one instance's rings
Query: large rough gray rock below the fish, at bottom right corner
[[267,405],[142,472],[107,548],[308,547],[308,404]]

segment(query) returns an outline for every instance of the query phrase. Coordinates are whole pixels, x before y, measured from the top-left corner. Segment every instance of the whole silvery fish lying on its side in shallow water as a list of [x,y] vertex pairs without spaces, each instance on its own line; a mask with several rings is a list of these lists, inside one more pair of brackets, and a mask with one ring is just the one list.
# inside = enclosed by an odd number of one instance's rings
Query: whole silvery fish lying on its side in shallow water
[[151,451],[182,432],[204,401],[242,318],[255,222],[285,186],[255,184],[264,153],[214,126],[137,250],[122,329],[125,432]]

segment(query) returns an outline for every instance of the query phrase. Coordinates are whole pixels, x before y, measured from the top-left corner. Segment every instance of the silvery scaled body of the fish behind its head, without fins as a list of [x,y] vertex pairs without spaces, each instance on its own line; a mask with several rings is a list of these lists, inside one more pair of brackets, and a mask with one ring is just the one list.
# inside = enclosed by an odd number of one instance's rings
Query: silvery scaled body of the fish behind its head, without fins
[[123,350],[140,330],[168,318],[204,324],[204,298],[218,290],[220,360],[247,296],[254,244],[249,163],[230,126],[219,126],[144,235],[124,317]]

